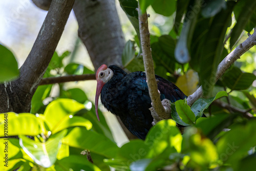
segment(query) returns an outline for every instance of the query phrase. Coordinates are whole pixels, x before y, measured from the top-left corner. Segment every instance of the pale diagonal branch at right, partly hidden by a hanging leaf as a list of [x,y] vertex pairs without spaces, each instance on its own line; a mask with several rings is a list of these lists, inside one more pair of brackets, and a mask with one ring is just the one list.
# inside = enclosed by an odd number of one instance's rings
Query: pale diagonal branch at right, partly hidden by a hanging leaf
[[[215,84],[216,81],[225,73],[225,71],[236,61],[240,58],[241,55],[243,55],[246,51],[248,51],[250,48],[252,48],[254,45],[256,45],[256,28],[254,28],[254,32],[252,35],[249,35],[249,37],[240,44],[236,49],[234,49],[232,52],[230,52],[219,64],[217,69],[217,74],[214,82],[211,82],[212,84]],[[187,98],[187,104],[192,105],[197,99],[203,96],[203,88],[200,86],[199,89]]]

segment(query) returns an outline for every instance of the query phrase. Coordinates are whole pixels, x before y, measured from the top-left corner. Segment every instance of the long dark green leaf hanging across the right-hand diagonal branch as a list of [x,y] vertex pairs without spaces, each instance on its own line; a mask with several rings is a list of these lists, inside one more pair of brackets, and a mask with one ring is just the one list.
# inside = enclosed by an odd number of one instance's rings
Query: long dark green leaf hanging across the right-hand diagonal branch
[[212,90],[215,84],[215,75],[217,67],[221,61],[222,51],[224,48],[223,41],[225,39],[227,28],[231,25],[232,9],[236,2],[226,2],[227,8],[222,9],[212,20],[207,38],[202,50],[200,63],[200,82],[202,83],[203,92],[207,94]]

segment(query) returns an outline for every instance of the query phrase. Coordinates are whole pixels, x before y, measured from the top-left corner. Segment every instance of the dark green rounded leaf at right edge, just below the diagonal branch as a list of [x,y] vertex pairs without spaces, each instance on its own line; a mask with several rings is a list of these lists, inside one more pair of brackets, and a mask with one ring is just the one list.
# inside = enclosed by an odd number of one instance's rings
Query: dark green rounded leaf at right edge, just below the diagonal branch
[[242,73],[237,67],[228,70],[222,77],[223,83],[231,90],[248,89],[255,79],[254,74]]

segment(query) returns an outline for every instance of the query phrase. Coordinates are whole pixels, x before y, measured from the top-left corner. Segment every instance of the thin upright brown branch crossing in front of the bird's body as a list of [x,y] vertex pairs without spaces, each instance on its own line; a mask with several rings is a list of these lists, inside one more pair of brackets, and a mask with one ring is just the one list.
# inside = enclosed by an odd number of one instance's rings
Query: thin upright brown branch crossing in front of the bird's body
[[[157,81],[154,71],[154,63],[152,59],[152,53],[150,48],[150,32],[148,31],[147,14],[141,14],[141,9],[138,3],[139,13],[139,28],[140,28],[140,41],[143,54],[143,62],[145,67],[148,92],[152,101],[152,106],[160,118],[168,119],[170,115],[165,112],[165,109],[160,100],[160,94],[157,89]],[[154,116],[153,116],[154,117]],[[154,123],[159,119],[154,117]],[[154,124],[153,123],[153,124]]]

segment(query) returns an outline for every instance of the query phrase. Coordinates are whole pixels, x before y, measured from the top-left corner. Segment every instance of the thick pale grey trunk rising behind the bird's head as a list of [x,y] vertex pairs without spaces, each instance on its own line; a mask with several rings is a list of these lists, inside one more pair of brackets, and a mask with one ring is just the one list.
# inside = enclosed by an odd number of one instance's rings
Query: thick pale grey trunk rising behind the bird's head
[[115,0],[76,0],[78,35],[97,70],[102,64],[122,66],[124,37]]

